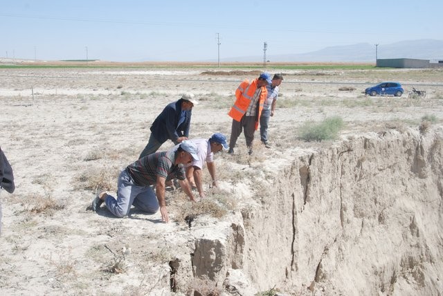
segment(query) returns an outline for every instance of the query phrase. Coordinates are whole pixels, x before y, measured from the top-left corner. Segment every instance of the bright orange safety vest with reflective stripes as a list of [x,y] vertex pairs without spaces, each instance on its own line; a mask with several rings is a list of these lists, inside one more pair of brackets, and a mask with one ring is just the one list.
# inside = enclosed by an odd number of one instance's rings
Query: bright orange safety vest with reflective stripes
[[[255,91],[257,90],[257,80],[253,80],[251,84],[248,80],[244,80],[238,88],[235,90],[235,97],[237,100],[235,100],[235,103],[233,107],[230,109],[228,115],[233,118],[235,121],[242,120],[243,115],[246,113],[246,110],[249,107],[249,104],[251,104],[251,100],[254,96]],[[266,86],[262,86],[262,92],[260,93],[259,98],[259,105],[258,110],[255,115],[255,130],[258,128],[258,122],[260,120],[260,115],[262,115],[263,110],[263,103],[264,100],[266,100],[268,96],[268,90],[266,89]]]

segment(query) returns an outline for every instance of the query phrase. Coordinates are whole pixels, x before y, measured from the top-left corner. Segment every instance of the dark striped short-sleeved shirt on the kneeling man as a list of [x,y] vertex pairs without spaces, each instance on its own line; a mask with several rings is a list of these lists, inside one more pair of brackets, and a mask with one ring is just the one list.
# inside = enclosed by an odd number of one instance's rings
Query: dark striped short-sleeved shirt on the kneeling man
[[134,180],[134,185],[150,186],[155,185],[157,176],[162,176],[166,180],[178,178],[185,180],[185,169],[183,165],[174,165],[177,157],[175,151],[163,151],[150,154],[126,167],[129,176]]

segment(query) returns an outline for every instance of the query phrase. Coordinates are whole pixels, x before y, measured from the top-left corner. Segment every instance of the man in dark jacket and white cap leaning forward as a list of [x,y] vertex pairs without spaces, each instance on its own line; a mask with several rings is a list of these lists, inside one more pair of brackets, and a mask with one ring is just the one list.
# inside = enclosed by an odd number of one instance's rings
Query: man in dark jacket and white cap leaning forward
[[168,139],[176,145],[188,140],[192,107],[198,103],[192,93],[186,93],[177,102],[168,104],[152,123],[150,140],[138,159],[159,150]]

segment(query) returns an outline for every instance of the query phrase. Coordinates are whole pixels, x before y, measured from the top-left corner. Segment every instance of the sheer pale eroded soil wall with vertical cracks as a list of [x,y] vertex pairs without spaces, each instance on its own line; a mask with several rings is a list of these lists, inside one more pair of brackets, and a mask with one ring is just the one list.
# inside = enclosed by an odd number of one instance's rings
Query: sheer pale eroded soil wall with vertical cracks
[[284,161],[262,205],[242,210],[251,285],[441,293],[442,134],[369,133]]

